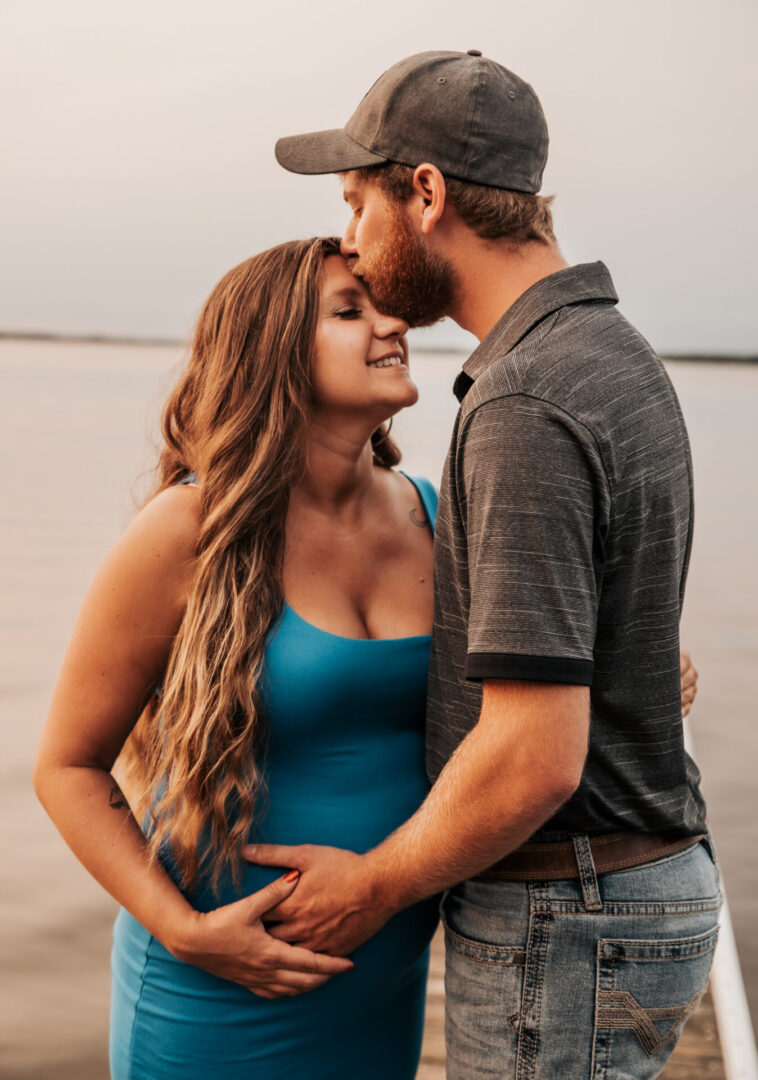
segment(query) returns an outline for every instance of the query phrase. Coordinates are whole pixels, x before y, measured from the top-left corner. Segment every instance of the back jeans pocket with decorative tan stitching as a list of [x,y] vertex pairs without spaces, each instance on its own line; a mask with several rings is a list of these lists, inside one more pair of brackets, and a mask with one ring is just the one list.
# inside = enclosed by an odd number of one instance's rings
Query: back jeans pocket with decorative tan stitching
[[600,941],[592,1080],[657,1077],[710,971],[718,927],[694,937]]

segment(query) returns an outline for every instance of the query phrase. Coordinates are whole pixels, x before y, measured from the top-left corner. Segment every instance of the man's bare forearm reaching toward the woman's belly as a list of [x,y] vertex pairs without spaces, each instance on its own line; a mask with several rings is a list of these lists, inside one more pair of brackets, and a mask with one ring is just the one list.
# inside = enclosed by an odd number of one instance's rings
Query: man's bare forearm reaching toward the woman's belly
[[503,718],[506,737],[500,725],[479,721],[414,816],[367,854],[377,889],[393,907],[490,866],[524,843],[576,789],[586,720],[577,725],[569,718],[566,745],[557,747],[553,731],[541,745],[543,734],[530,719]]

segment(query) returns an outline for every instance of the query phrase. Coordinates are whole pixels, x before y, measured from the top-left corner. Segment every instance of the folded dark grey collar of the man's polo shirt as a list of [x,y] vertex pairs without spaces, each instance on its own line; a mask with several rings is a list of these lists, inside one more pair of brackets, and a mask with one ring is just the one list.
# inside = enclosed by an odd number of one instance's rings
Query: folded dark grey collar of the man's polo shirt
[[[463,365],[456,380],[456,395],[465,391],[487,367],[516,346],[546,315],[569,303],[605,300],[618,303],[619,297],[604,262],[582,262],[542,278],[522,293],[498,320]],[[462,390],[462,394],[459,392]]]

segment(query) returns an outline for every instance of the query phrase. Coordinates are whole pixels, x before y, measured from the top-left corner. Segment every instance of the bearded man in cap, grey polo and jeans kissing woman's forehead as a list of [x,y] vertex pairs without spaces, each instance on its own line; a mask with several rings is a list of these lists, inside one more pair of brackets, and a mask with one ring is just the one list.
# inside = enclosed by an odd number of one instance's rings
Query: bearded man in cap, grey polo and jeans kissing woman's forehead
[[687,434],[606,268],[560,254],[546,150],[531,87],[476,50],[402,60],[344,131],[276,148],[342,174],[380,310],[480,341],[435,538],[429,797],[365,855],[247,853],[308,872],[274,932],[321,951],[448,890],[456,1080],[658,1076],[716,941],[679,701]]

